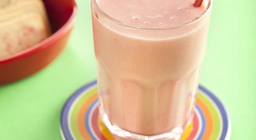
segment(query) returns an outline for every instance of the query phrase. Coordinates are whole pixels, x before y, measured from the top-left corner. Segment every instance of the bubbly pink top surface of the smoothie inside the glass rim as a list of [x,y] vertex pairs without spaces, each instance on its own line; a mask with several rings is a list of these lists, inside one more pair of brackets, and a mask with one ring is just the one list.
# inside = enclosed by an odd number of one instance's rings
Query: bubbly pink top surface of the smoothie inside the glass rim
[[195,20],[204,6],[194,0],[97,0],[99,7],[115,20],[142,28],[166,28]]

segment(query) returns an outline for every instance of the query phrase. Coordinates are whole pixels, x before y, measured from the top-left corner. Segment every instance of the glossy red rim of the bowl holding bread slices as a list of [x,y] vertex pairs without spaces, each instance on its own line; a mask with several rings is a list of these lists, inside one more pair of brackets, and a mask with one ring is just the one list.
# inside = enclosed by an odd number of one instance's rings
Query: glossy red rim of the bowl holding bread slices
[[58,31],[53,33],[47,39],[44,39],[42,42],[39,42],[38,44],[33,45],[30,48],[27,48],[25,50],[22,50],[18,53],[11,55],[10,57],[0,60],[0,64],[5,64],[5,63],[13,62],[17,59],[22,59],[22,58],[28,57],[34,53],[37,53],[38,51],[40,51],[44,48],[48,48],[56,40],[61,38],[67,31],[70,30],[70,28],[73,27],[73,23],[75,22],[75,19],[77,16],[77,10],[78,10],[77,3],[75,0],[72,0],[72,3],[73,3],[73,7],[72,7],[73,12],[72,12],[70,18],[67,20],[67,22],[61,28],[59,28]]

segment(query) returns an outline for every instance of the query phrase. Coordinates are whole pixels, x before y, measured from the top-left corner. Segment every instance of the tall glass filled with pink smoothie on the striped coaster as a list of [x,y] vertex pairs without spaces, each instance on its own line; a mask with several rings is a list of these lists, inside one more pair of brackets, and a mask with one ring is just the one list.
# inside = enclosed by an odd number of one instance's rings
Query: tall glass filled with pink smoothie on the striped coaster
[[125,139],[178,139],[193,116],[211,0],[91,0],[100,118]]

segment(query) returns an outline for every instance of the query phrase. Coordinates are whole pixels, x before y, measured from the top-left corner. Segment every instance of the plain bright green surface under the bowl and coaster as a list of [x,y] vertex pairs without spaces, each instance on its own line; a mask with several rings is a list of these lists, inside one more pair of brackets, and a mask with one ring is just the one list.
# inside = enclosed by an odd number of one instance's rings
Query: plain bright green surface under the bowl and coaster
[[[61,140],[67,98],[96,78],[90,1],[79,14],[67,48],[51,65],[22,81],[0,86],[0,140]],[[201,84],[227,107],[231,140],[255,140],[256,1],[215,0]]]

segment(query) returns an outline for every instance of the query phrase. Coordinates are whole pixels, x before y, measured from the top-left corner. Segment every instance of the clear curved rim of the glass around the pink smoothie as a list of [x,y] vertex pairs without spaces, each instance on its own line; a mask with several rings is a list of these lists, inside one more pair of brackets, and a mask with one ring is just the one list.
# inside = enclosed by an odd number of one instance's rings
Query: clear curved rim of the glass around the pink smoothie
[[181,25],[177,25],[177,26],[173,26],[173,27],[165,27],[165,28],[144,28],[144,27],[137,27],[137,26],[133,26],[133,25],[128,25],[125,24],[119,20],[114,19],[113,17],[109,16],[108,14],[106,14],[97,4],[97,0],[90,0],[91,4],[93,4],[93,6],[96,8],[97,11],[99,11],[100,14],[103,15],[103,17],[111,22],[114,22],[117,25],[121,25],[124,27],[128,27],[128,28],[135,28],[135,29],[143,29],[143,30],[169,30],[169,29],[175,29],[175,28],[181,28],[181,27],[186,27],[188,25],[192,25],[194,23],[197,23],[199,21],[201,21],[210,11],[211,7],[212,7],[212,0],[208,0],[208,4],[204,10],[204,12],[202,14],[200,14],[198,17],[196,17],[194,20],[191,20],[189,22],[186,22],[184,24]]

